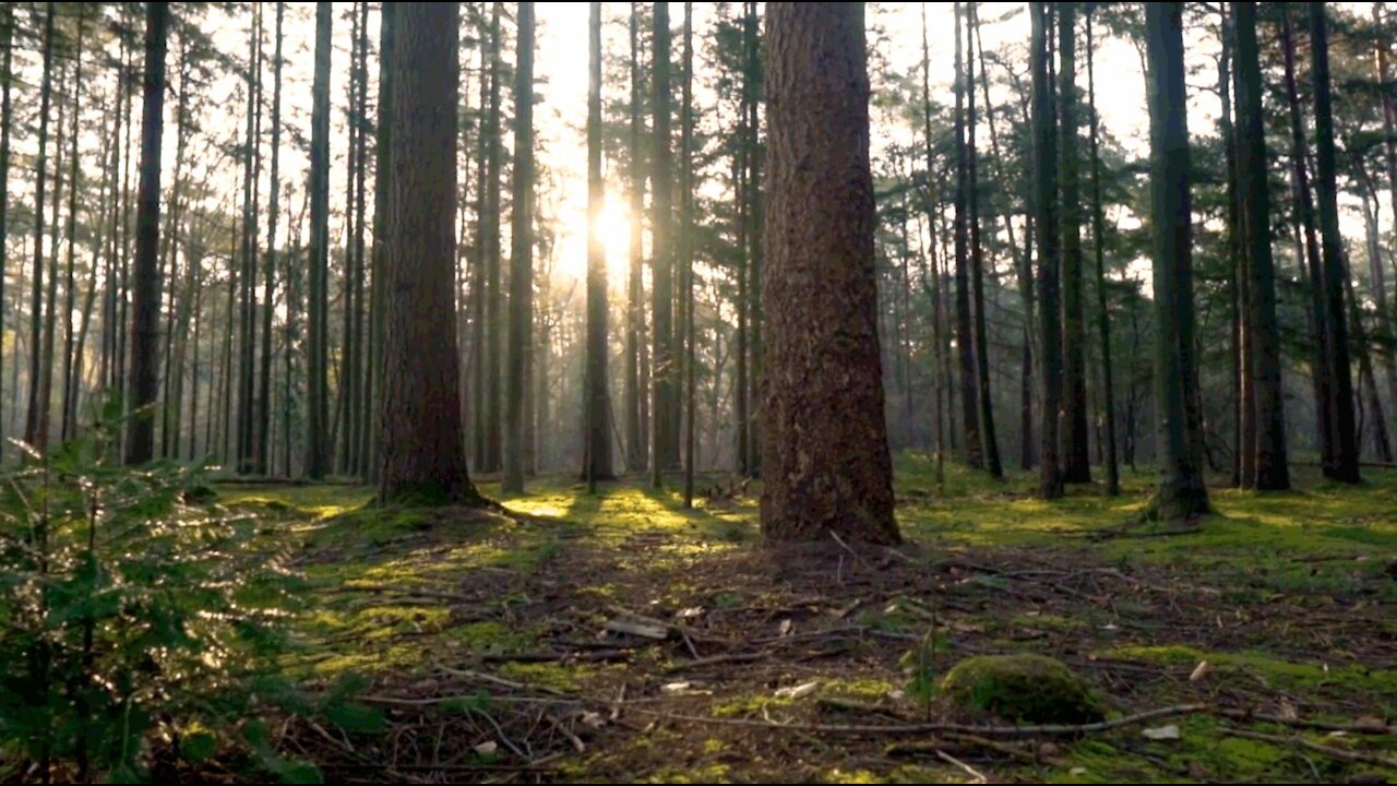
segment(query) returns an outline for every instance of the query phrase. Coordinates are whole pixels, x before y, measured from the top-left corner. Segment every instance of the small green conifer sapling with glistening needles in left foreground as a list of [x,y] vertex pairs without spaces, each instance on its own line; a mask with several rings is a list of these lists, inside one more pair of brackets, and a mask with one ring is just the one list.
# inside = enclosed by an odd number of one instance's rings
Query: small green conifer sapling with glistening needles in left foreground
[[134,782],[211,757],[317,780],[272,708],[298,578],[203,467],[122,467],[122,408],[0,476],[0,780]]

